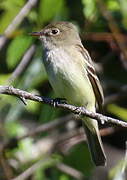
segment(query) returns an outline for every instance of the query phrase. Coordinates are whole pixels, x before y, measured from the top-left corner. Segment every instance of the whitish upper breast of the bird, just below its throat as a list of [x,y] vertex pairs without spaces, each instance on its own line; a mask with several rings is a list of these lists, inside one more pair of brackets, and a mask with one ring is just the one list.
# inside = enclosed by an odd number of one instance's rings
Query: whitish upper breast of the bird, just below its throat
[[55,79],[56,81],[68,80],[70,82],[75,71],[77,71],[74,59],[62,48],[47,51],[45,53],[44,65],[49,77],[51,76],[53,81]]

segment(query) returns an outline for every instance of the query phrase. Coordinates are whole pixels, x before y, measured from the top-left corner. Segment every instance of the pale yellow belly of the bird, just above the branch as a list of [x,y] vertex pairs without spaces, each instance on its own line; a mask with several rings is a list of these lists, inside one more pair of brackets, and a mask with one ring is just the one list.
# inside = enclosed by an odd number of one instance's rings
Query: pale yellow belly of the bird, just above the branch
[[70,104],[95,107],[94,92],[85,72],[82,74],[71,67],[69,71],[50,70],[48,76],[57,97],[66,98]]

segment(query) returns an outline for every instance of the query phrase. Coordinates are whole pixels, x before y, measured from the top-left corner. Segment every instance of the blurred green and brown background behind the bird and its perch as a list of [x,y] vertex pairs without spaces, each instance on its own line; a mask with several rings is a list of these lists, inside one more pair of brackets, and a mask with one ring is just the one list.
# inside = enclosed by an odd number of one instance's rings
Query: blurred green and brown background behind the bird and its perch
[[[41,43],[29,33],[59,20],[79,29],[104,89],[104,114],[127,121],[126,0],[0,0],[0,85],[55,97]],[[27,101],[25,106],[14,96],[0,95],[0,179],[126,180],[127,130],[100,124],[108,160],[97,168],[76,118],[49,105]]]

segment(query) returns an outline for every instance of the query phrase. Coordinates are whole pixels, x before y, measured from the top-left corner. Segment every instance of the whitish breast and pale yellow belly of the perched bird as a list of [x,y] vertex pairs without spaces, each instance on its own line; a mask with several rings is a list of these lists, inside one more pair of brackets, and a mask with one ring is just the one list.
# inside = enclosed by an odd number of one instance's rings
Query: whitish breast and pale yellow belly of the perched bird
[[64,49],[45,52],[44,65],[54,91],[73,104],[87,103],[93,95],[85,65],[81,62],[80,56],[72,56]]

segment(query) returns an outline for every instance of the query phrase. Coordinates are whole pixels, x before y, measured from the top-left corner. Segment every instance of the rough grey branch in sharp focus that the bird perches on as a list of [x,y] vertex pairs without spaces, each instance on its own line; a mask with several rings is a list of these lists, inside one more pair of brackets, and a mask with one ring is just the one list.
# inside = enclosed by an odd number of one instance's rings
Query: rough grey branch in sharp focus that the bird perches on
[[[14,96],[17,96],[18,98],[22,99],[23,101],[26,99],[29,99],[29,100],[49,104],[50,106],[54,107],[53,99],[46,98],[46,97],[40,97],[40,96],[34,95],[32,93],[28,93],[23,90],[13,88],[12,86],[0,86],[0,94],[14,95]],[[123,121],[120,121],[118,119],[111,118],[108,116],[104,116],[99,113],[94,113],[94,112],[88,111],[84,107],[77,107],[77,106],[73,106],[73,105],[65,104],[65,103],[57,103],[55,107],[66,109],[75,114],[88,116],[90,118],[100,121],[101,123],[108,122],[108,123],[113,123],[113,124],[116,124],[116,125],[119,125],[122,127],[127,127],[126,122],[123,122]]]

